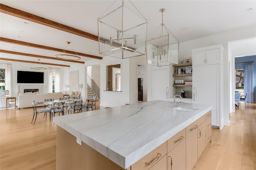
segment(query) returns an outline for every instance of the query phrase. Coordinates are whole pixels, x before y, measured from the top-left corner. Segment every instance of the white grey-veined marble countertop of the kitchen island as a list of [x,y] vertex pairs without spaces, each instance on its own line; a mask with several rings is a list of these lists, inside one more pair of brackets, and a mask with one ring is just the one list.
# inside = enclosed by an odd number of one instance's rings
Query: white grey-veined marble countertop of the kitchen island
[[212,109],[177,102],[150,101],[54,117],[54,123],[126,169]]

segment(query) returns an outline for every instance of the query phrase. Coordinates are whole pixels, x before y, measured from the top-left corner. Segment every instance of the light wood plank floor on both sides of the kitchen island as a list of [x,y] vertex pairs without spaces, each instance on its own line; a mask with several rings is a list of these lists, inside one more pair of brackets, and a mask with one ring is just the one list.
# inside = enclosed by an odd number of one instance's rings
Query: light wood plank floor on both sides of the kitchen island
[[[32,125],[32,115],[32,108],[0,110],[0,170],[56,169],[56,125],[43,114]],[[230,127],[212,128],[197,169],[256,170],[256,104],[236,107]]]

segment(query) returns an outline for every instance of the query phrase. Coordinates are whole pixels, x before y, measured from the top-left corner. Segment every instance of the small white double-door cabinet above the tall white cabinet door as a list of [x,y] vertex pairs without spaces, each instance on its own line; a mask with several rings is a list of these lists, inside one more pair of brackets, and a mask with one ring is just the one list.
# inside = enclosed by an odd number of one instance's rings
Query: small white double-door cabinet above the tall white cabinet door
[[220,62],[220,49],[193,52],[193,65],[216,64]]

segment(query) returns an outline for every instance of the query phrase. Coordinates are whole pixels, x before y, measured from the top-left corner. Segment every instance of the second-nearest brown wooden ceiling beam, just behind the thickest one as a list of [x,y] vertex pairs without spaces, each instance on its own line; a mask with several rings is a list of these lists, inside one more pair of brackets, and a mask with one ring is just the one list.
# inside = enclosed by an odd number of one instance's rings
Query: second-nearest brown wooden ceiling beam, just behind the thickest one
[[[38,45],[38,44],[33,44],[33,43],[27,43],[27,42],[24,42],[24,41],[18,41],[18,40],[14,40],[14,39],[3,38],[3,37],[0,37],[0,41],[5,42],[5,43],[13,43],[13,44],[17,44],[17,45],[24,45],[24,46],[28,46],[28,47],[34,47],[34,48],[38,48],[38,49],[58,51],[58,52],[61,52],[61,53],[64,51],[63,49],[57,49],[57,48],[54,48],[54,47],[48,47],[48,46]],[[84,54],[84,53],[77,53],[77,52],[74,52],[74,51],[66,50],[65,53],[80,55],[80,56],[89,57],[89,58],[92,58],[92,59],[102,60],[102,57],[98,57],[98,56],[94,56],[94,55],[88,55],[88,54]]]

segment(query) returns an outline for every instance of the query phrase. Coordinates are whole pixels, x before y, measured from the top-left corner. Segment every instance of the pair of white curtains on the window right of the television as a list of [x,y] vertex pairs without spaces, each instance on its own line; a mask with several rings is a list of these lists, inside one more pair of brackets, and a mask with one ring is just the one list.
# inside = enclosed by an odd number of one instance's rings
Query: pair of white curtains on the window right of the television
[[48,68],[48,92],[52,93],[53,90],[53,73],[55,73],[55,92],[60,92],[60,69]]

